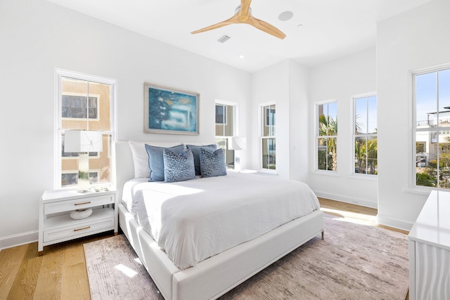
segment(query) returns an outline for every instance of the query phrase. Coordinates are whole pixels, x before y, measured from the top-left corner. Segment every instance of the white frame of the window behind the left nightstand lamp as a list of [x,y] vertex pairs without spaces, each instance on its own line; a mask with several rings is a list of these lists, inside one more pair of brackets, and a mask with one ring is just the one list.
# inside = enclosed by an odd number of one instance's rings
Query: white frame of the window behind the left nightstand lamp
[[[104,135],[108,135],[110,136],[110,145],[111,147],[113,147],[113,144],[116,141],[116,132],[117,132],[117,128],[116,128],[116,98],[117,98],[117,80],[115,79],[110,79],[110,78],[105,78],[105,77],[98,77],[95,75],[91,75],[91,74],[84,74],[81,72],[75,72],[75,71],[70,71],[70,70],[63,70],[63,69],[59,69],[59,68],[55,68],[55,105],[54,105],[54,120],[55,120],[55,124],[54,124],[54,128],[55,128],[55,134],[54,134],[54,138],[53,138],[53,151],[55,153],[55,168],[53,170],[53,186],[54,188],[64,188],[61,186],[61,174],[63,174],[63,171],[61,170],[62,167],[62,155],[61,155],[61,151],[62,151],[62,141],[61,141],[61,136],[63,135],[63,133],[65,132],[65,129],[62,129],[62,124],[63,124],[63,119],[68,119],[68,118],[63,118],[62,117],[62,86],[61,86],[61,79],[62,77],[70,77],[70,78],[74,78],[74,79],[81,79],[81,80],[86,80],[86,81],[94,81],[94,82],[98,82],[100,84],[108,84],[110,85],[110,130],[109,131],[102,131],[102,133]],[[94,96],[96,94],[93,94]],[[100,110],[98,110],[97,112],[97,116],[100,116]],[[96,119],[92,119],[92,120],[96,120]],[[111,172],[110,172],[110,180],[111,183],[115,183],[115,164],[113,164],[113,157],[111,157]]]

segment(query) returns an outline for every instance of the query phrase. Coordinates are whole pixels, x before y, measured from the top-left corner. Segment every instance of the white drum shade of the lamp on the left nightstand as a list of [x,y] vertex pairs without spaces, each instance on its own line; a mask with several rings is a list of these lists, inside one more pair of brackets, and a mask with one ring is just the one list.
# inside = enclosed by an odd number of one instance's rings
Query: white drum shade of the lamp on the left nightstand
[[67,130],[64,136],[64,152],[101,152],[101,131]]

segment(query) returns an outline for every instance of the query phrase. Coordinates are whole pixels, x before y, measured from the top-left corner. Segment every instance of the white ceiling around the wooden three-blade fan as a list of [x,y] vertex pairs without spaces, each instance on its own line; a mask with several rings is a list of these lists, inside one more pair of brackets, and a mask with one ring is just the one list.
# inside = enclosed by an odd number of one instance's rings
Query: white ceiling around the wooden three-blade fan
[[[240,0],[48,1],[255,72],[287,58],[314,66],[371,48],[376,22],[431,0],[253,0],[252,15],[283,31],[283,40],[245,24],[191,34],[230,18]],[[278,20],[284,11],[293,18]],[[221,44],[217,39],[224,34],[231,39]]]

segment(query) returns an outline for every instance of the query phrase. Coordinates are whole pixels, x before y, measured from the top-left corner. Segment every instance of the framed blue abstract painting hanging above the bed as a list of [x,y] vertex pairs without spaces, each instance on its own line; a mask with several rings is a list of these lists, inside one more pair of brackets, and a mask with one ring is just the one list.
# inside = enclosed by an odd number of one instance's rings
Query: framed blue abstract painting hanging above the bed
[[144,82],[145,133],[198,135],[200,93]]

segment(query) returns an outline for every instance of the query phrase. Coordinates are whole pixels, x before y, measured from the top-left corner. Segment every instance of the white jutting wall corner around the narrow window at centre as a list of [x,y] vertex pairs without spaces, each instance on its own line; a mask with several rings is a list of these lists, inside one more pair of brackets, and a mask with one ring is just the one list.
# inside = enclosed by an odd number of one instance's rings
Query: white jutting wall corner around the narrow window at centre
[[252,74],[252,169],[261,167],[259,107],[276,103],[276,174],[308,181],[308,75],[293,60]]

